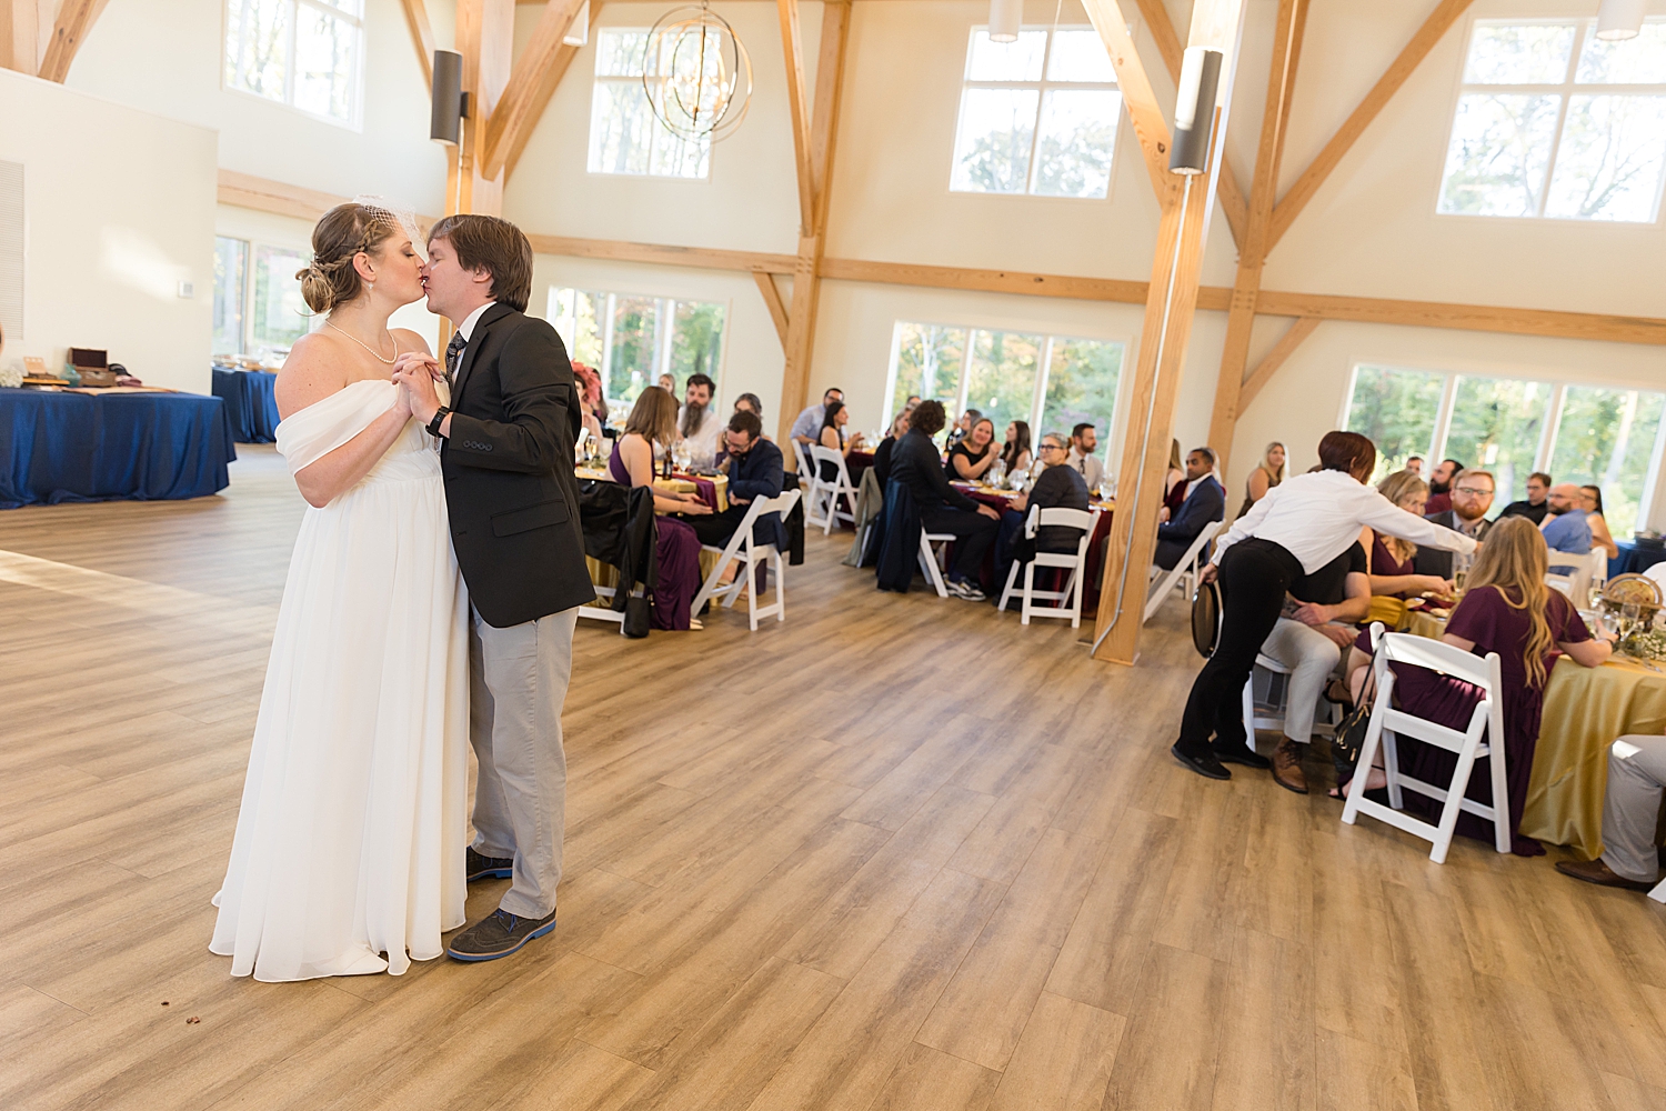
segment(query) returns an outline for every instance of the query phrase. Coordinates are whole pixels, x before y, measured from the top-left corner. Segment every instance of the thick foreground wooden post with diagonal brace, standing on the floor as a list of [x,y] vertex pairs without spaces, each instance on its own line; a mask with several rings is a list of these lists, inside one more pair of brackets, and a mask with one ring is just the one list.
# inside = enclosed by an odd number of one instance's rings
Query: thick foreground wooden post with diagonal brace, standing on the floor
[[[1100,37],[1111,47],[1121,83],[1126,58],[1118,58],[1115,40],[1121,25],[1110,27],[1106,17],[1120,17],[1115,0],[1088,0],[1088,13]],[[1145,618],[1146,568],[1156,548],[1156,518],[1163,505],[1163,475],[1168,471],[1168,445],[1175,425],[1175,398],[1186,365],[1186,341],[1198,308],[1198,277],[1203,265],[1203,242],[1220,178],[1221,143],[1230,115],[1231,85],[1236,70],[1241,0],[1198,0],[1191,12],[1190,45],[1220,50],[1221,85],[1216,92],[1210,137],[1208,170],[1201,175],[1166,173],[1158,187],[1163,217],[1158,225],[1156,257],[1151,262],[1151,285],[1146,295],[1145,326],[1140,333],[1140,358],[1130,393],[1128,433],[1116,481],[1116,515],[1100,585],[1095,660],[1131,665],[1140,655],[1140,630]],[[1138,62],[1135,62],[1138,65]],[[1141,82],[1150,88],[1148,82]],[[1126,93],[1125,93],[1126,97]],[[1133,113],[1135,107],[1130,105]],[[1150,105],[1143,107],[1150,112]],[[1200,105],[1200,112],[1203,107]],[[1135,117],[1138,120],[1138,117]],[[1163,128],[1166,147],[1166,127]],[[1141,137],[1141,147],[1145,147]],[[1148,155],[1156,178],[1158,163]]]

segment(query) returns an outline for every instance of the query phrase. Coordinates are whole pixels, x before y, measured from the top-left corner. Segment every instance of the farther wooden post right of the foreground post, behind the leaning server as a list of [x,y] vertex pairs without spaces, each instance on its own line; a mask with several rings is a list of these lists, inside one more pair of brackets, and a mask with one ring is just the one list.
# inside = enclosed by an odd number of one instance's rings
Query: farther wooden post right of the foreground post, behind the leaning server
[[1250,220],[1238,252],[1238,277],[1233,281],[1231,306],[1226,310],[1226,343],[1221,350],[1221,373],[1215,386],[1215,411],[1210,416],[1210,446],[1220,458],[1223,475],[1241,410],[1240,393],[1245,368],[1250,365],[1250,336],[1254,331],[1261,268],[1266,265],[1268,233],[1273,225],[1273,193],[1278,190],[1278,163],[1284,153],[1284,130],[1289,123],[1296,63],[1301,60],[1301,32],[1306,22],[1308,0],[1278,2],[1273,65],[1266,78],[1266,108],[1261,115],[1261,142],[1256,148],[1254,178],[1250,185]]

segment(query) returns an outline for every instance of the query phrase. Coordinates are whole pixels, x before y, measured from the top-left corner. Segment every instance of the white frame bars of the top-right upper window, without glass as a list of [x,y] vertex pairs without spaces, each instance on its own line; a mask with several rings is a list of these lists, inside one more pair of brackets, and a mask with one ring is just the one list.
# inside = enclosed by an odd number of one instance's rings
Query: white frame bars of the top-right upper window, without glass
[[[1646,23],[1663,23],[1666,18],[1649,15]],[[1563,73],[1563,80],[1556,85],[1486,85],[1486,83],[1469,83],[1464,80],[1464,73],[1469,68],[1469,50],[1474,45],[1474,32],[1478,27],[1568,27],[1574,28],[1573,48],[1568,57],[1568,70]],[[1453,83],[1451,110],[1448,112],[1446,127],[1446,143],[1441,147],[1439,172],[1434,183],[1434,215],[1441,220],[1524,220],[1524,222],[1544,222],[1551,220],[1556,223],[1571,223],[1579,227],[1619,227],[1619,228],[1646,228],[1659,225],[1663,198],[1666,198],[1666,170],[1661,172],[1654,183],[1654,210],[1648,220],[1603,220],[1594,217],[1556,217],[1546,213],[1546,207],[1551,198],[1551,185],[1556,180],[1556,160],[1561,157],[1563,132],[1568,125],[1568,105],[1578,95],[1633,95],[1633,97],[1666,97],[1666,80],[1654,85],[1631,85],[1631,83],[1594,83],[1581,85],[1578,82],[1579,58],[1584,53],[1586,45],[1596,33],[1596,17],[1594,15],[1531,15],[1531,17],[1473,17],[1469,20],[1468,32],[1464,33],[1463,53],[1458,58],[1458,77]],[[1441,212],[1441,200],[1446,193],[1446,160],[1451,157],[1453,137],[1458,130],[1458,110],[1463,105],[1466,95],[1474,93],[1498,93],[1498,95],[1543,95],[1558,97],[1559,105],[1556,108],[1556,130],[1551,135],[1549,155],[1544,163],[1544,178],[1539,182],[1538,212],[1533,215],[1486,215],[1478,212]]]

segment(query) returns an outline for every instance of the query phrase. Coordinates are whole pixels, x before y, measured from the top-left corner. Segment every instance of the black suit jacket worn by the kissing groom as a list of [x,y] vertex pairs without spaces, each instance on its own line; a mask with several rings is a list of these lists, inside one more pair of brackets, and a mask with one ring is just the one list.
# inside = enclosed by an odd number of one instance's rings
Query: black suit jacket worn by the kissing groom
[[451,548],[468,598],[493,628],[595,598],[578,525],[578,385],[548,321],[493,305],[451,383],[440,451]]

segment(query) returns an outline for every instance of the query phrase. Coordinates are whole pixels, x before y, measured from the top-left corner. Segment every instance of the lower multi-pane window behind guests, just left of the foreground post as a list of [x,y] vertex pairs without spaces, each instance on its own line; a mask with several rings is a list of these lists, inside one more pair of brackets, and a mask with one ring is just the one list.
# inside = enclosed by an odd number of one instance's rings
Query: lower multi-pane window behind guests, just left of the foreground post
[[996,438],[1015,420],[1030,423],[1031,440],[1091,423],[1108,448],[1121,368],[1115,340],[898,321],[885,423],[918,395],[943,401],[950,415],[978,410],[995,421]]

